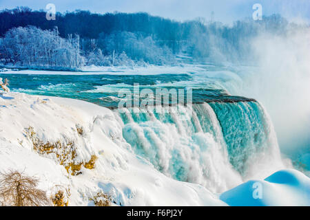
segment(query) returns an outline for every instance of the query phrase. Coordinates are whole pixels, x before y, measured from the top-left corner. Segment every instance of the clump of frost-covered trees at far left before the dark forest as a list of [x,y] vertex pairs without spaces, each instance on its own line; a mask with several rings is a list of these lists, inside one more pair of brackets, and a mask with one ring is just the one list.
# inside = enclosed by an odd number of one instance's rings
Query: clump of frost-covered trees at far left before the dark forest
[[26,67],[80,67],[83,57],[79,36],[62,39],[57,28],[41,30],[33,26],[12,28],[3,38],[6,56]]

